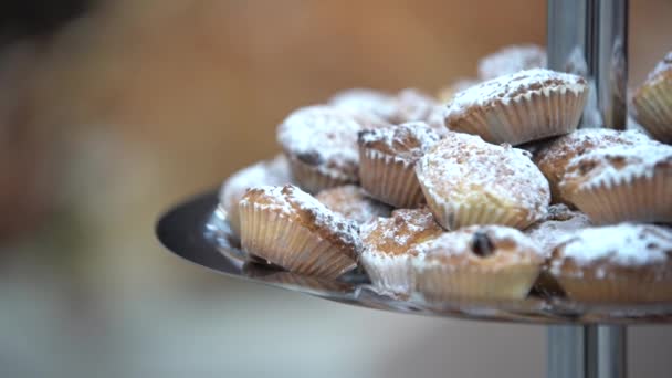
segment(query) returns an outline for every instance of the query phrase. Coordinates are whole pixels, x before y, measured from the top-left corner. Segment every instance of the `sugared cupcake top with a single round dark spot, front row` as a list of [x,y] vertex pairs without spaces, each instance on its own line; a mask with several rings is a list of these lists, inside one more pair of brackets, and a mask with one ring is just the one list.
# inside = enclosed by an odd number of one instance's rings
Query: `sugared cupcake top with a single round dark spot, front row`
[[502,225],[472,225],[414,248],[424,254],[421,265],[496,271],[516,264],[542,264],[540,249],[516,229]]

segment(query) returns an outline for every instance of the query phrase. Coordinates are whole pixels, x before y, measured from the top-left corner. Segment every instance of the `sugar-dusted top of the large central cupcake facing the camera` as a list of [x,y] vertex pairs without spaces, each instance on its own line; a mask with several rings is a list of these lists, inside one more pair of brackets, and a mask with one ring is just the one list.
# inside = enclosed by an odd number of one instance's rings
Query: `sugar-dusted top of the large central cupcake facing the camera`
[[449,133],[418,161],[416,174],[434,199],[453,206],[492,203],[534,222],[546,216],[550,193],[529,157],[510,145]]

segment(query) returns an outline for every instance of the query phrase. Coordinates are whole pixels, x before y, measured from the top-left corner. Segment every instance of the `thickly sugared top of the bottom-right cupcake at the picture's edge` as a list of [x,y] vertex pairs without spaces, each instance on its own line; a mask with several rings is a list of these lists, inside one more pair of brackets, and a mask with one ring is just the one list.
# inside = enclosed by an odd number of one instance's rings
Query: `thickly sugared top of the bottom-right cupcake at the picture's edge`
[[581,277],[585,272],[608,279],[647,269],[672,277],[672,230],[652,224],[620,223],[578,231],[553,252],[554,275]]

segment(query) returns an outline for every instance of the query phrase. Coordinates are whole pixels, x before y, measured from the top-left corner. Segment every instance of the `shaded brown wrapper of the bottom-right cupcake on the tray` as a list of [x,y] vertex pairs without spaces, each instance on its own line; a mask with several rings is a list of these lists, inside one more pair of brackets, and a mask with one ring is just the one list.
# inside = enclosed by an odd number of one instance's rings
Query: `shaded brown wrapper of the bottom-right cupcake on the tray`
[[619,279],[591,276],[556,277],[567,297],[585,303],[658,303],[672,301],[672,277],[655,280],[641,275]]

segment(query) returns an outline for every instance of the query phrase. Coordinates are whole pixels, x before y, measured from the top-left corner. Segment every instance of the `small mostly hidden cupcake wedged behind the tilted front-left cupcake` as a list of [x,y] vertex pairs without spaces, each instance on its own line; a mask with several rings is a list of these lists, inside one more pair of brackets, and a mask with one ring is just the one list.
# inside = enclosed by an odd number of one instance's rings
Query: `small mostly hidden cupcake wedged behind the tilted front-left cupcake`
[[329,210],[358,224],[368,223],[378,217],[389,217],[391,212],[389,206],[366,196],[361,188],[354,185],[325,189],[315,198]]

